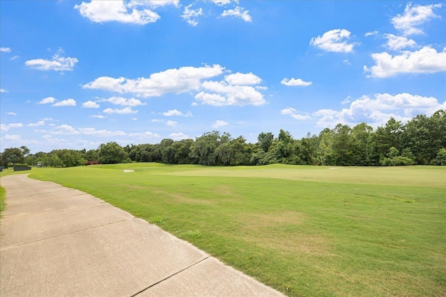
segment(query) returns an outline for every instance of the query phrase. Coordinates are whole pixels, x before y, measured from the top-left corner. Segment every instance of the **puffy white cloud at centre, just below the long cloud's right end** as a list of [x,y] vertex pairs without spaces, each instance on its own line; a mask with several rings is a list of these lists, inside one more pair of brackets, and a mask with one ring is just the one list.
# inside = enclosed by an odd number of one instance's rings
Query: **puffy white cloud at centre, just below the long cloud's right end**
[[263,95],[252,86],[229,86],[226,85],[224,81],[205,81],[201,86],[207,91],[219,93],[198,93],[195,96],[195,99],[201,101],[201,104],[209,104],[213,106],[257,106],[266,103],[265,99],[263,99]]

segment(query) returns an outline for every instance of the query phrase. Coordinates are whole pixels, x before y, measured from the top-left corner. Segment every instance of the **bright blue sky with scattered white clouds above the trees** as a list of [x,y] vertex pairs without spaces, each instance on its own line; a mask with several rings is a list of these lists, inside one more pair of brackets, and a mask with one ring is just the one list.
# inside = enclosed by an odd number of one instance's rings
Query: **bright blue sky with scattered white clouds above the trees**
[[443,1],[1,1],[1,150],[446,109]]

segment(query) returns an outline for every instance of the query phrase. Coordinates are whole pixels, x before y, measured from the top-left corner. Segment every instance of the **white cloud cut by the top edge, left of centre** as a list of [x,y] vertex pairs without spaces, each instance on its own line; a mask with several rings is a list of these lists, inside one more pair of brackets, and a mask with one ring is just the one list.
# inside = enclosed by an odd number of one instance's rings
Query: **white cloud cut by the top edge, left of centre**
[[121,22],[125,24],[145,25],[160,19],[160,15],[157,13],[147,8],[138,9],[139,6],[145,6],[144,1],[93,0],[90,3],[82,2],[80,5],[75,5],[75,9],[79,10],[82,17],[86,17],[91,22],[96,23]]

